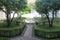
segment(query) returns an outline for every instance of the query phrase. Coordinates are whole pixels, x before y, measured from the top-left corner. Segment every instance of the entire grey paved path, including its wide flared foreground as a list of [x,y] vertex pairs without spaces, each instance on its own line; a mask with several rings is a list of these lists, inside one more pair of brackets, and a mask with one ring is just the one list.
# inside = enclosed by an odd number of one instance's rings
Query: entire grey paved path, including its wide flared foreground
[[34,38],[33,36],[33,25],[26,24],[26,27],[22,33],[22,35],[17,37],[12,37],[10,40],[40,40],[38,38]]

